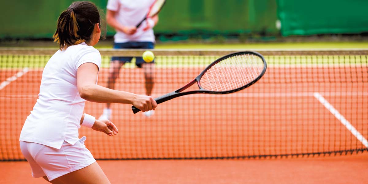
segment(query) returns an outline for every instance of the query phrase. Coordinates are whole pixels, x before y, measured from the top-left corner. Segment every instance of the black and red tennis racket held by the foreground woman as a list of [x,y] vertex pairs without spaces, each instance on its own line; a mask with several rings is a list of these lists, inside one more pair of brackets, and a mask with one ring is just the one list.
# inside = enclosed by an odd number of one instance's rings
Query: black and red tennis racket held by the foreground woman
[[[213,61],[201,74],[187,85],[171,93],[155,98],[157,104],[178,96],[194,93],[227,94],[245,89],[265,74],[265,58],[257,52],[236,52]],[[183,92],[197,83],[198,90]],[[132,106],[135,113],[140,110]]]

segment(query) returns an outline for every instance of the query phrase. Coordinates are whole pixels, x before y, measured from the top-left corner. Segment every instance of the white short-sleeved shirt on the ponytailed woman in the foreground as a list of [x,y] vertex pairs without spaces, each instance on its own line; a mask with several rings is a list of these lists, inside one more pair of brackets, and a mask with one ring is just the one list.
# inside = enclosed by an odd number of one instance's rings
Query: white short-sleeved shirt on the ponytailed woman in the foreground
[[20,141],[60,149],[64,141],[75,144],[85,100],[77,88],[77,69],[84,63],[100,67],[98,50],[85,43],[58,50],[47,62],[38,99],[25,120]]

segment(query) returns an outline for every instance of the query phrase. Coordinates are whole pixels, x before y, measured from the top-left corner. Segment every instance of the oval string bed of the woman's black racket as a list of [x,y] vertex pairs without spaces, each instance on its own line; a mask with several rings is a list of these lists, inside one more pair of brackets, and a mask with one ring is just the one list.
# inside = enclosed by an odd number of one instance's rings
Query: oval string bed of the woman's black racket
[[256,79],[263,70],[263,61],[254,54],[238,54],[219,61],[202,76],[203,89],[231,91]]

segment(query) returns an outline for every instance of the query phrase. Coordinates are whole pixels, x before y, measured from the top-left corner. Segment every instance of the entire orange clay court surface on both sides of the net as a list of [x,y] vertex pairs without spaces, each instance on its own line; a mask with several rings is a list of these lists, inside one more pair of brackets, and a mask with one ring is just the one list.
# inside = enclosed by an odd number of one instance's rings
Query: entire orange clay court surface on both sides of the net
[[[131,73],[131,71],[128,73],[124,72],[124,70],[125,69],[123,69],[122,76],[120,76],[117,83],[126,84],[127,81],[131,81],[131,86],[118,85],[117,88],[121,90],[132,89],[132,92],[144,93],[142,79],[135,79],[132,77],[143,76],[141,73],[142,71],[134,70],[133,73]],[[311,70],[320,69],[312,68]],[[328,68],[322,68],[321,70],[328,70]],[[102,74],[103,72],[105,72],[105,75]],[[174,73],[176,71],[169,72]],[[16,71],[1,72],[1,81],[15,73]],[[269,85],[272,84],[271,81],[282,81],[283,78],[288,78],[290,80],[300,78],[300,76],[280,76],[279,74],[282,73],[283,71],[269,69],[268,73],[266,73],[267,75],[265,75],[261,81],[257,82],[257,84],[251,88],[244,90],[244,93],[262,93],[270,89]],[[300,73],[303,75],[311,74],[312,71],[291,71],[290,73],[296,75]],[[321,71],[321,73],[323,73],[323,71]],[[32,110],[32,106],[37,98],[39,82],[41,80],[40,74],[41,71],[29,71],[24,76],[0,90],[2,98],[0,109],[3,111],[7,110],[7,112],[10,111],[10,113],[2,113],[4,116],[0,117],[0,137],[2,139],[0,143],[0,156],[4,160],[23,159],[19,149],[18,138],[22,123],[26,116],[28,116],[29,111]],[[164,74],[164,72],[158,71],[158,79],[165,78]],[[181,76],[179,73],[179,81],[173,82],[170,81],[170,79],[167,79],[168,81],[158,81],[153,93],[162,94],[164,92],[173,91],[190,81],[196,74],[198,74],[197,69],[193,70],[191,75],[185,74]],[[341,77],[342,74],[331,75],[333,77],[328,78],[329,81],[335,80],[336,76]],[[307,75],[303,77],[307,77]],[[350,77],[354,78],[354,76]],[[336,78],[336,80],[339,80],[339,78]],[[102,85],[105,86],[103,82],[106,81],[106,71],[100,73],[99,81],[102,81]],[[346,90],[347,92],[359,92],[368,89],[367,84],[362,84],[360,86],[346,86],[348,83],[332,83],[325,85],[323,81],[320,81],[322,84],[314,84],[314,88],[310,89],[304,88],[300,83],[293,85],[293,81],[289,82],[288,88],[283,88],[283,84],[280,82],[280,86],[274,88],[275,92],[315,92],[319,87],[322,89],[317,91],[324,91],[324,89],[327,88],[332,90],[346,88],[348,89]],[[132,87],[132,85],[134,85],[134,87]],[[226,97],[223,96],[216,96],[217,101],[213,98],[214,96],[203,96],[205,100],[212,100],[211,102],[215,103],[213,106],[221,106],[222,102],[226,100]],[[235,103],[237,100],[241,100],[238,98],[240,97],[234,96],[234,98],[231,99]],[[172,121],[177,120],[177,118],[170,116],[170,114],[174,113],[174,107],[190,109],[187,107],[190,104],[188,102],[185,103],[185,100],[191,98],[182,97],[160,105],[160,108],[156,110],[157,112],[152,118],[145,118],[142,114],[133,115],[128,105],[114,105],[115,114],[113,114],[113,121],[116,122],[121,130],[117,137],[108,138],[100,132],[93,132],[86,128],[81,128],[80,134],[81,136],[86,135],[88,137],[86,146],[96,158],[108,158],[110,156],[120,156],[120,158],[217,156],[211,155],[211,148],[214,150],[224,150],[225,154],[232,153],[234,155],[242,155],[244,153],[257,155],[262,153],[319,152],[329,151],[335,148],[364,148],[364,146],[362,146],[361,143],[357,141],[357,139],[352,136],[351,133],[347,131],[347,129],[313,96],[306,95],[301,98],[291,96],[286,100],[283,98],[286,97],[265,97],[259,98],[259,100],[251,98],[247,100],[246,102],[248,104],[240,106],[239,108],[240,110],[246,110],[253,113],[252,117],[248,119],[251,123],[249,127],[238,126],[243,119],[237,118],[236,114],[232,114],[233,112],[231,111],[224,113],[226,116],[214,117],[212,123],[202,124],[202,127],[201,124],[198,125],[199,127],[192,126],[193,124],[199,123],[196,122],[197,118],[191,118],[191,124],[188,124],[184,120],[183,122],[172,123]],[[364,100],[367,100],[367,96],[363,95],[353,98],[356,102],[350,99],[348,99],[350,100],[348,101],[346,98],[340,98],[339,96],[326,96],[325,98],[335,106],[340,113],[344,115],[350,114],[347,115],[346,118],[351,120],[351,123],[362,132],[365,138],[367,138],[367,127],[362,126],[362,124],[357,124],[362,121],[367,122],[368,120],[368,114],[364,113],[367,112],[367,105],[362,103],[365,102]],[[280,103],[284,101],[289,103]],[[252,111],[264,108],[264,106],[255,106],[255,102],[267,103],[269,112],[262,114],[263,112],[261,110]],[[346,106],[342,106],[342,104],[346,104]],[[317,116],[314,116],[316,119],[312,119],[312,124],[298,127],[297,122],[292,122],[294,119],[288,119],[286,116],[287,114],[280,114],[282,111],[277,111],[277,109],[288,109],[291,110],[291,112],[295,111],[297,114],[298,112],[296,109],[299,105],[305,109],[305,112],[318,113]],[[357,108],[356,105],[358,105],[359,108]],[[93,116],[99,116],[100,112],[102,112],[102,108],[102,104],[93,105],[92,103],[86,103],[85,110],[88,113],[90,112]],[[199,115],[196,113],[198,113],[198,110],[201,108],[206,108],[206,106],[199,104],[195,109],[192,109],[191,112],[184,112],[180,116],[196,117]],[[362,111],[351,112],[351,109],[354,108],[361,109]],[[17,112],[16,115],[14,115],[15,112]],[[305,117],[312,117],[313,115],[314,114],[305,114]],[[124,121],[127,119],[129,121]],[[219,121],[217,122],[217,120]],[[221,123],[224,120],[231,123]],[[266,125],[264,124],[265,121],[273,122],[273,124]],[[284,122],[287,122],[287,124]],[[326,122],[328,124],[323,124]],[[8,126],[9,123],[12,123],[13,126]],[[293,130],[295,130],[298,135],[304,136],[296,141],[288,142],[288,140],[284,138],[285,135],[277,134],[277,132],[283,132],[285,130],[284,128],[290,127],[290,125],[294,126]],[[333,126],[332,128],[330,127],[331,125]],[[215,133],[221,133],[212,135],[211,132],[207,131],[208,128],[212,126],[215,127]],[[223,126],[223,129],[221,126]],[[313,132],[324,130],[324,128],[325,131],[321,132],[326,132],[326,135],[313,134]],[[246,134],[241,131],[246,131]],[[136,134],[136,132],[139,132],[139,134]],[[276,134],[273,134],[273,132],[276,132]],[[269,133],[269,135],[264,133]],[[330,138],[335,138],[337,134],[341,135],[340,140],[343,142],[328,142]],[[245,138],[251,139],[253,142],[232,142],[231,140],[234,139],[229,136],[237,135],[245,136]],[[227,141],[227,138],[230,138],[230,141]],[[276,138],[277,140],[272,138]],[[311,140],[315,140],[316,142],[312,142],[312,145],[298,144],[300,142],[308,143],[308,141]],[[115,141],[126,146],[115,146]],[[191,141],[197,142],[198,144],[177,144],[177,142]],[[106,144],[101,145],[100,142],[105,142]],[[159,142],[159,144],[157,142]],[[323,144],[319,144],[320,142]],[[140,147],[140,145],[143,145],[143,147]],[[301,146],[298,147],[298,145]],[[102,150],[106,148],[106,146],[110,149]],[[237,146],[242,149],[236,149],[238,148]],[[192,152],[198,149],[201,150],[199,153],[195,151]],[[99,150],[104,152],[99,152]],[[136,153],[135,151],[138,152]],[[152,155],[153,151],[158,152]],[[167,151],[174,152],[169,153]],[[262,151],[262,153],[259,151]],[[305,156],[303,158],[245,160],[98,160],[98,163],[112,183],[367,183],[368,154],[364,152],[357,155],[349,154],[347,156]],[[2,176],[0,177],[0,183],[47,183],[42,178],[32,178],[30,167],[28,163],[24,161],[0,162],[0,172]]]

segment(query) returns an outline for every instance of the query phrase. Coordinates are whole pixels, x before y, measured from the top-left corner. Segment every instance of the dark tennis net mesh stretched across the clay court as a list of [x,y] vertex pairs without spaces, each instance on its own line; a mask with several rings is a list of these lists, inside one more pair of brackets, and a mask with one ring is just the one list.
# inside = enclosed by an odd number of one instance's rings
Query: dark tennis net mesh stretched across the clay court
[[[55,49],[0,49],[0,160],[24,160],[19,135],[38,98],[42,70]],[[144,51],[144,50],[143,50]],[[142,50],[100,49],[98,83],[106,86],[111,56]],[[154,98],[174,91],[230,50],[154,50]],[[160,104],[153,116],[113,104],[119,134],[89,128],[96,159],[205,159],[340,155],[367,151],[368,51],[266,51],[267,71],[249,88],[227,95],[185,95]],[[134,59],[116,89],[145,94]],[[105,104],[86,102],[99,117]]]

